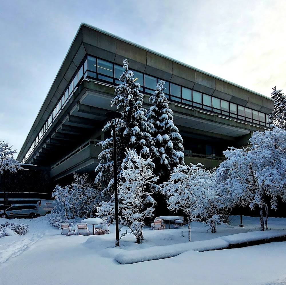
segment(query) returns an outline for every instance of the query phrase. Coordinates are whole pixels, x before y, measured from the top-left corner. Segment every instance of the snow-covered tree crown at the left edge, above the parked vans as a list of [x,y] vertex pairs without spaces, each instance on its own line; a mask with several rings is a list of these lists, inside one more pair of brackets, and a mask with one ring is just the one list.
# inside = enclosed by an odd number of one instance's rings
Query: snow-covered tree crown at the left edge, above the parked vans
[[12,150],[7,142],[0,141],[0,175],[4,171],[17,172],[23,169],[21,164],[14,158],[16,150]]

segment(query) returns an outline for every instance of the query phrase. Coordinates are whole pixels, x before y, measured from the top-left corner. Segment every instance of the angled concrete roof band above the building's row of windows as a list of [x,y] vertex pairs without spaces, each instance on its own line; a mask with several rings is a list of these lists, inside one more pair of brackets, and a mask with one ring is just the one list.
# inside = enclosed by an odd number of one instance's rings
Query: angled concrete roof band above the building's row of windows
[[[76,67],[86,54],[119,65],[122,64],[124,58],[127,58],[130,69],[145,72],[257,111],[271,113],[273,110],[273,100],[268,97],[82,23],[17,156],[18,160],[21,161],[29,150],[72,78]],[[108,89],[108,87],[103,89]],[[105,91],[102,90],[102,93],[106,93]]]

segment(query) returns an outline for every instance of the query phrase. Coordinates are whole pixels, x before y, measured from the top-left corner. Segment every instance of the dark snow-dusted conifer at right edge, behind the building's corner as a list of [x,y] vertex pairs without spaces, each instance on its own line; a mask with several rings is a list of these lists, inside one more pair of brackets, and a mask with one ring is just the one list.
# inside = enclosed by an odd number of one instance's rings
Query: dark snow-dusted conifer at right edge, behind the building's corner
[[271,97],[274,100],[274,110],[269,115],[269,119],[275,126],[286,129],[286,97],[282,90],[276,90],[276,86],[272,89]]

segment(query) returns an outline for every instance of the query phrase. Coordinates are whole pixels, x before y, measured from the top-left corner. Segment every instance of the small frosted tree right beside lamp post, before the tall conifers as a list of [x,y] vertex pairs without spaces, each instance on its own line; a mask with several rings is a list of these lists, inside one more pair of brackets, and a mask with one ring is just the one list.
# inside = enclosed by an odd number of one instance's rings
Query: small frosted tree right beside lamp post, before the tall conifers
[[[154,204],[148,185],[157,181],[154,176],[152,159],[139,156],[134,150],[126,151],[125,167],[118,185],[118,212],[121,226],[128,226],[136,236],[136,243],[142,243],[144,219],[152,217]],[[114,218],[114,194],[109,202],[102,202],[98,208],[100,216]]]

